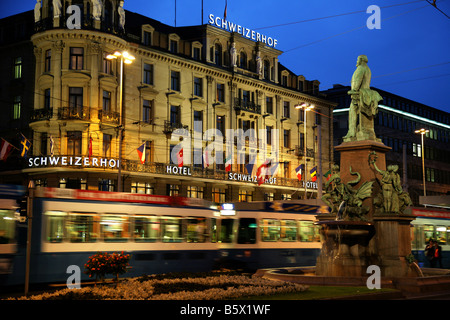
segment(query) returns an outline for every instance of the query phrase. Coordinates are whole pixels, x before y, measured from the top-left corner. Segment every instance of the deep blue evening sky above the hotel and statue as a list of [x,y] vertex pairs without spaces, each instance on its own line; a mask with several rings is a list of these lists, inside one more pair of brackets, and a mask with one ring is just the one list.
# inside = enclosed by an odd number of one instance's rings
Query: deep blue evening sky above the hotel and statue
[[[442,12],[426,0],[203,0],[203,23],[223,17],[226,2],[228,21],[277,39],[280,62],[321,90],[350,85],[365,54],[372,86],[450,112],[450,0],[436,1]],[[0,18],[35,3],[0,0]],[[370,5],[380,8],[381,29],[367,27]],[[202,23],[202,0],[125,0],[124,8],[172,26]]]

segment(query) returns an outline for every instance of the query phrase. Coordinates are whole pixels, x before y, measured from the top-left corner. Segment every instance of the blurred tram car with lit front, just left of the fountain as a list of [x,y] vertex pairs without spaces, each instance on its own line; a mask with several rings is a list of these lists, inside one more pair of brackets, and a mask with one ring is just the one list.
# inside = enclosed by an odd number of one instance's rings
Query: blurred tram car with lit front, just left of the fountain
[[247,270],[315,266],[321,243],[314,221],[320,210],[297,201],[222,205],[219,264]]

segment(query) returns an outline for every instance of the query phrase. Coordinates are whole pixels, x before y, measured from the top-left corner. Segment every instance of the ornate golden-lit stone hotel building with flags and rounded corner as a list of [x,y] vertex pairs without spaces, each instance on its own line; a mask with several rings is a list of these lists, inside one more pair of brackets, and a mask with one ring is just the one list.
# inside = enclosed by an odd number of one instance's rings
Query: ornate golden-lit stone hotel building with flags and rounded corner
[[[33,179],[48,187],[219,203],[301,199],[296,168],[307,163],[307,175],[322,168],[318,181],[307,184],[307,197],[317,197],[322,173],[333,162],[335,105],[318,95],[317,80],[295,75],[279,63],[282,52],[262,41],[209,24],[171,27],[137,13],[123,15],[123,1],[104,2],[98,7],[97,1],[69,0],[54,8],[43,0],[36,9],[19,53],[34,78],[27,88],[32,101],[22,114],[29,124],[22,133],[32,147],[27,158],[11,156],[2,164],[4,183]],[[15,17],[30,26],[32,16]],[[5,23],[0,28],[5,35]],[[2,51],[18,45],[3,36]],[[111,60],[115,52],[122,56]],[[134,58],[131,64],[121,63],[124,53]],[[13,108],[10,99],[1,101],[5,110]],[[315,106],[306,132],[306,112],[296,108],[302,104]],[[215,136],[206,134],[211,129]],[[227,136],[239,129],[256,136],[242,144]],[[207,149],[212,143],[215,148]],[[183,165],[173,156],[181,145]],[[211,163],[204,160],[206,150]],[[277,171],[259,185],[255,171],[273,154]],[[247,166],[252,156],[253,170]]]

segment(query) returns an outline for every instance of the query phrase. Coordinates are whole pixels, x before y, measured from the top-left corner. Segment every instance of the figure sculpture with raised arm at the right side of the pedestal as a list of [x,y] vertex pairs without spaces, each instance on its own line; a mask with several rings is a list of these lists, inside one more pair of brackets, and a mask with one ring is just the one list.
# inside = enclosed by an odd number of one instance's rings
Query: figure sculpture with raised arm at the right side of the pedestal
[[374,198],[376,213],[403,213],[407,206],[412,205],[412,201],[409,194],[403,191],[400,175],[397,173],[398,165],[389,165],[386,170],[380,170],[376,159],[376,152],[372,151],[369,154],[369,164],[373,164],[375,170],[382,176],[381,192]]

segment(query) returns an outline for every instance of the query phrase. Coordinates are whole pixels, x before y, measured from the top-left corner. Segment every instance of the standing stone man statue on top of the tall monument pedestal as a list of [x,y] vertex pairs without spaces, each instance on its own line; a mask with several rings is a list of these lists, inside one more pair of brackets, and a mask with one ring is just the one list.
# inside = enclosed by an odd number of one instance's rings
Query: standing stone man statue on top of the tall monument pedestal
[[383,98],[378,92],[370,89],[371,71],[367,62],[367,56],[360,55],[352,76],[351,90],[348,92],[352,102],[348,114],[348,133],[344,137],[345,142],[380,141],[376,138],[373,120],[378,113],[378,101]]

